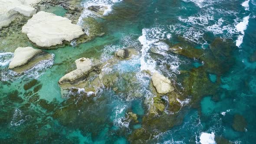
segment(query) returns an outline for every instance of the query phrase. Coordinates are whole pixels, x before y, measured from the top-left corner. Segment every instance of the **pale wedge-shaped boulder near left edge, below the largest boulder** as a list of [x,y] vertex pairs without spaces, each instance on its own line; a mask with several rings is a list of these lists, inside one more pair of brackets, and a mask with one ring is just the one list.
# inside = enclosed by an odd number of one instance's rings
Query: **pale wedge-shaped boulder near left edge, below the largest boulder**
[[9,64],[9,69],[16,69],[20,66],[26,65],[31,59],[43,53],[45,52],[32,47],[18,47],[14,51],[14,57]]

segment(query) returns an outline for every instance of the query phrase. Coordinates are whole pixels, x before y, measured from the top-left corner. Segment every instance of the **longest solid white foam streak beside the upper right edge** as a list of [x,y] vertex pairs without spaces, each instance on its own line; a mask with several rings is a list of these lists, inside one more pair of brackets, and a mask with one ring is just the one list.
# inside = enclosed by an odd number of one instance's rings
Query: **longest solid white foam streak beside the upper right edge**
[[244,31],[247,29],[248,23],[249,23],[249,17],[250,16],[245,16],[243,18],[243,21],[238,23],[236,25],[236,31],[238,33],[241,33],[240,36],[236,39],[236,46],[240,47],[240,45],[243,43],[243,36],[244,36]]

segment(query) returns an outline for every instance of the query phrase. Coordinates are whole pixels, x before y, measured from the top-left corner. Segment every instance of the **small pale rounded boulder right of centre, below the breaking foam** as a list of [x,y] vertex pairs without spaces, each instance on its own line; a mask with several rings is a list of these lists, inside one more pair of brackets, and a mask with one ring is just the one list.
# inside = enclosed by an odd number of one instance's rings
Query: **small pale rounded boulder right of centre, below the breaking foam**
[[171,86],[171,81],[158,72],[154,72],[152,81],[159,94],[166,94],[174,90],[173,86]]

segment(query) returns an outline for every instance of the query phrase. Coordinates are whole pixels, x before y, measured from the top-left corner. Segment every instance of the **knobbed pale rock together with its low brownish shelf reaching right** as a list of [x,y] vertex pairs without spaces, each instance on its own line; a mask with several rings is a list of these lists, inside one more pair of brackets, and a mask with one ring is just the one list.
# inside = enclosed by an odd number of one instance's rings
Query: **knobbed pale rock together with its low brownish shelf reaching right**
[[[124,49],[118,50],[116,53],[120,53]],[[127,56],[125,59],[131,58],[132,55],[138,54],[135,49],[125,49]],[[62,90],[70,90],[75,88],[84,88],[86,92],[96,92],[98,88],[105,86],[111,87],[116,82],[117,75],[105,74],[101,69],[108,63],[114,65],[118,60],[123,60],[119,56],[108,60],[108,62],[98,62],[88,58],[80,58],[75,60],[75,70],[67,73],[61,79],[59,79],[59,85]],[[114,91],[118,90],[118,87],[113,88]]]

